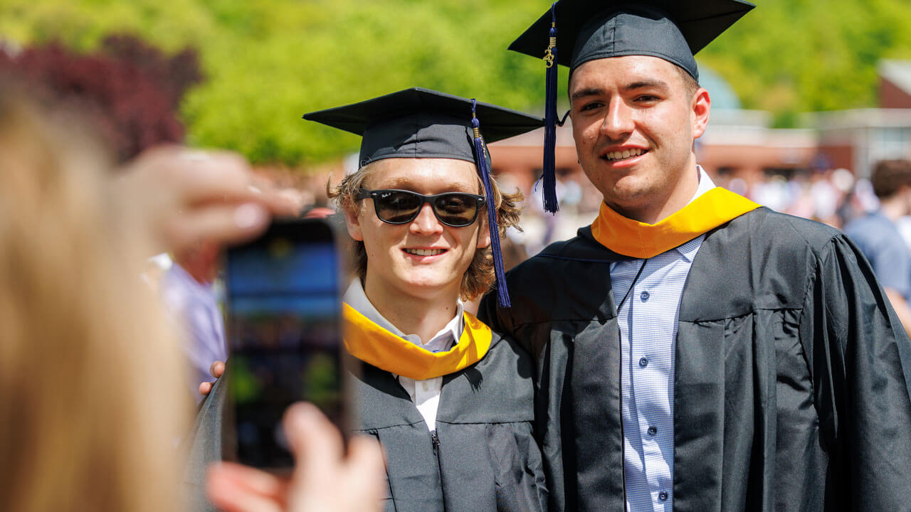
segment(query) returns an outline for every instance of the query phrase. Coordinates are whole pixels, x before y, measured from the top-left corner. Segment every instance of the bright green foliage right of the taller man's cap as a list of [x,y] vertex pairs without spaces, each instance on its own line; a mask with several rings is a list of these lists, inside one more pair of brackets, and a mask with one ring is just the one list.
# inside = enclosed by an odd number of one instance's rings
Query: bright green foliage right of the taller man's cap
[[911,58],[906,0],[756,3],[700,60],[778,126],[799,112],[875,107],[880,59]]

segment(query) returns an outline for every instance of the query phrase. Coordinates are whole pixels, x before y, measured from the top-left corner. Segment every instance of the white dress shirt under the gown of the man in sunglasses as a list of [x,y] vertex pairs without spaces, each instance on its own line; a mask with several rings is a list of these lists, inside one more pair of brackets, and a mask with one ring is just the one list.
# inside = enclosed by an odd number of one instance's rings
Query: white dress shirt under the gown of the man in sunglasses
[[[430,352],[445,352],[452,348],[458,339],[462,336],[464,325],[465,306],[462,301],[456,302],[455,316],[445,327],[434,335],[427,343],[421,342],[417,334],[404,334],[386,320],[383,315],[376,311],[374,304],[367,298],[363,292],[363,285],[360,279],[355,279],[348,287],[344,294],[344,302],[355,310],[369,318],[374,323],[384,327],[391,333],[402,336],[415,345],[422,347]],[[423,381],[415,381],[404,375],[395,375],[399,384],[402,384],[405,392],[411,397],[411,401],[417,406],[417,410],[424,418],[427,429],[431,432],[436,430],[436,409],[440,403],[440,393],[443,389],[443,377],[434,377]]]

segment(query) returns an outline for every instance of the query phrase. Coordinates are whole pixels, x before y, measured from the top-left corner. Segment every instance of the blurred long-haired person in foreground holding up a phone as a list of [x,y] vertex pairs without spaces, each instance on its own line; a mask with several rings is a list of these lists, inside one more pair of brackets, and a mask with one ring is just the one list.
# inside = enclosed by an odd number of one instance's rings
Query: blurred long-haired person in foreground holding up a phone
[[[222,153],[200,163],[156,149],[112,179],[106,148],[61,116],[0,87],[0,509],[180,510],[174,445],[190,407],[173,333],[138,271],[163,249],[248,239],[287,208],[251,192],[246,164]],[[292,480],[220,466],[213,499],[248,512],[369,510],[379,451],[354,441],[343,458],[326,424],[292,408]]]

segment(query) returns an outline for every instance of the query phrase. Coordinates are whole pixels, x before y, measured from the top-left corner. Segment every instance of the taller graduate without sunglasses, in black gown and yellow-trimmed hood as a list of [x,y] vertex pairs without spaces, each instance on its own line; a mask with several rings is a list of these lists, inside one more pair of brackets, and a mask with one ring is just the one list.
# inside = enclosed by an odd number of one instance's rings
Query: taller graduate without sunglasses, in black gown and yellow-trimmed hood
[[553,509],[909,507],[911,343],[869,264],[697,165],[693,54],[750,9],[561,0],[510,46],[557,54],[549,85],[569,67],[604,195],[591,226],[510,272],[511,309],[481,305],[538,358]]

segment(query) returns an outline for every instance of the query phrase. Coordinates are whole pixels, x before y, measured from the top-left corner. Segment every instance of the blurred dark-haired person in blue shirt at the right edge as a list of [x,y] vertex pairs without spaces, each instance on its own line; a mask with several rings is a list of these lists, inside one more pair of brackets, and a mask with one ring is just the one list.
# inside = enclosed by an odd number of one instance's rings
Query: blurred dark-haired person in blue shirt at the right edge
[[911,161],[881,160],[871,177],[879,209],[852,220],[844,233],[855,241],[892,302],[905,330],[911,333],[911,252],[896,222],[911,214]]

